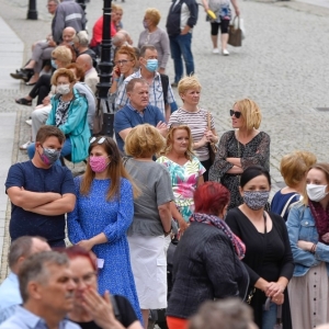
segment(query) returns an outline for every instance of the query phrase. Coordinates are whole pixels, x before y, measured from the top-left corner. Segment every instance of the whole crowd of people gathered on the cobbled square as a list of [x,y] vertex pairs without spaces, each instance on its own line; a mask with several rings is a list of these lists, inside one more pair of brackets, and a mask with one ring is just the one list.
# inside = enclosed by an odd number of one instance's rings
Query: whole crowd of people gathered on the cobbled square
[[[220,26],[228,55],[229,1],[203,5],[217,14],[214,53]],[[89,37],[76,1],[48,0],[52,34],[11,75],[33,86],[15,102],[37,98],[37,106],[21,147],[30,160],[12,164],[5,181],[11,273],[0,285],[0,329],[147,329],[155,309],[166,309],[169,329],[329,322],[329,163],[286,155],[286,186],[270,200],[271,138],[259,104],[237,100],[222,136],[198,105],[197,8],[173,1],[167,31],[160,12],[146,9],[134,47],[123,8],[112,4],[111,138],[93,132],[103,19]],[[65,161],[84,161],[83,174],[73,178]]]

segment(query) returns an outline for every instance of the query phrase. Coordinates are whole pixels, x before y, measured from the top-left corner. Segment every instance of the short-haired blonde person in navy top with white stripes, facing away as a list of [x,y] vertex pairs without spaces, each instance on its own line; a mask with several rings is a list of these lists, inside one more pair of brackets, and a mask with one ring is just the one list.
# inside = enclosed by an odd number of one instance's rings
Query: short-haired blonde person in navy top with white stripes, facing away
[[[275,193],[271,211],[287,219],[291,206],[300,200],[306,188],[306,174],[315,164],[317,157],[308,151],[294,151],[285,155],[280,163],[280,171],[286,186]],[[302,196],[303,198],[303,196]]]

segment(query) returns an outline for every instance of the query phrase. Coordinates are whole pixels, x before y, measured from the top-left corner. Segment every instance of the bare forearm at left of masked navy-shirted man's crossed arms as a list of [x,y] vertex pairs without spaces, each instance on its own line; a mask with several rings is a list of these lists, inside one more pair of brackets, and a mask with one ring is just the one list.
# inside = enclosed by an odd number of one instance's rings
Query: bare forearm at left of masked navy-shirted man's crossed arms
[[7,190],[10,201],[22,208],[34,208],[60,200],[59,193],[53,192],[30,192],[23,188],[12,186]]

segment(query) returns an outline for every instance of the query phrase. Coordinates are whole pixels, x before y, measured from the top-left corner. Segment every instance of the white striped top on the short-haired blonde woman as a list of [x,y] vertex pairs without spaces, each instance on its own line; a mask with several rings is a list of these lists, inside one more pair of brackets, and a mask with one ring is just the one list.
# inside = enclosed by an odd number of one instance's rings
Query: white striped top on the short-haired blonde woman
[[[182,124],[186,125],[191,129],[193,143],[197,143],[202,139],[204,133],[208,129],[208,111],[198,109],[197,112],[189,112],[180,107],[178,111],[173,112],[169,118],[168,126],[171,124]],[[212,131],[215,129],[215,123],[212,115],[211,118]],[[208,145],[204,145],[194,150],[195,156],[200,161],[205,161],[209,159],[209,149]]]

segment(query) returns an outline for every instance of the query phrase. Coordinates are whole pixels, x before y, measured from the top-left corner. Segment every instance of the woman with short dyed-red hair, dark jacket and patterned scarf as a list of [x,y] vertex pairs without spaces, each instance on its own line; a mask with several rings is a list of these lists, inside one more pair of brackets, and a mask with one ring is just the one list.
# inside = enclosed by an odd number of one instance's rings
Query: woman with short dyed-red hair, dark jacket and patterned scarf
[[246,297],[249,277],[240,262],[245,245],[222,219],[229,191],[206,182],[194,192],[195,213],[173,257],[173,286],[168,302],[169,329],[183,329],[205,300]]

